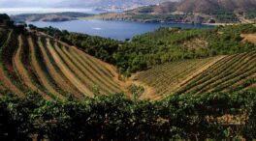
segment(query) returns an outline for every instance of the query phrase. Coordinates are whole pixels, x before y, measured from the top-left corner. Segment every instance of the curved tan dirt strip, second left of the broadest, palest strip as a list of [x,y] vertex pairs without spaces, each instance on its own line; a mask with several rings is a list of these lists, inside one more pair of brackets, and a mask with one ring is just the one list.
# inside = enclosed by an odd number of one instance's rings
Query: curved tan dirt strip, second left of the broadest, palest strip
[[48,82],[48,78],[45,76],[44,71],[40,68],[40,65],[38,64],[38,60],[36,57],[36,50],[35,50],[35,44],[32,41],[32,38],[28,38],[28,44],[31,51],[31,63],[34,68],[34,70],[37,72],[37,75],[39,76],[40,81],[44,85],[44,87],[48,90],[49,93],[53,94],[54,96],[57,96],[59,99],[63,99],[63,96],[59,94]]

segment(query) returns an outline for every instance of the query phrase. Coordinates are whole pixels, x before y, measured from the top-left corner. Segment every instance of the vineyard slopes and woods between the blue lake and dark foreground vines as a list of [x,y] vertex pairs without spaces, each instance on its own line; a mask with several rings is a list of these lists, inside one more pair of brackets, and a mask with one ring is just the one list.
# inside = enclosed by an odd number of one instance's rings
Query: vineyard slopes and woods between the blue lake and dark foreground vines
[[45,99],[82,99],[124,92],[162,99],[171,94],[255,89],[252,24],[160,28],[130,42],[52,27],[27,30],[9,18],[0,25],[2,95],[37,92]]

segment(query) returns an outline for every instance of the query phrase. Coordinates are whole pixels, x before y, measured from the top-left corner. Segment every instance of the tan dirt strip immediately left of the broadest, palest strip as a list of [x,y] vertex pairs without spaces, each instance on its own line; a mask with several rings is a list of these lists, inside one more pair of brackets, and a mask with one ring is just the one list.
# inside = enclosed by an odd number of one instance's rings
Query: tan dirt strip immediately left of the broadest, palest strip
[[[43,54],[44,62],[46,63],[46,66],[48,68],[48,71],[51,75],[51,77],[55,80],[57,85],[67,91],[70,94],[73,94],[76,98],[81,99],[82,96],[80,92],[73,86],[73,84],[65,77],[65,75],[62,72],[57,72],[53,64],[50,62],[48,58],[48,53],[46,51],[45,46],[41,42],[41,39],[38,40],[38,44],[40,47],[40,50]],[[49,45],[49,44],[47,44]]]

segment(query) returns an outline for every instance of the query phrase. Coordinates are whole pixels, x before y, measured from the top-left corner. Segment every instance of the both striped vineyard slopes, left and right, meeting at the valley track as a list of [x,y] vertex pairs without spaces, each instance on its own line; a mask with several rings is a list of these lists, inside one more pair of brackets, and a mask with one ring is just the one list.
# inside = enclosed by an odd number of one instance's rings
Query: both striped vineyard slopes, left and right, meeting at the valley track
[[128,93],[128,86],[135,84],[144,87],[142,99],[162,99],[170,94],[234,92],[256,87],[255,51],[153,66],[134,74],[132,83],[128,83],[118,79],[112,65],[43,33],[16,34],[12,29],[1,29],[1,34],[0,94],[11,91],[24,96],[34,91],[45,99],[70,95],[82,99],[96,93]]

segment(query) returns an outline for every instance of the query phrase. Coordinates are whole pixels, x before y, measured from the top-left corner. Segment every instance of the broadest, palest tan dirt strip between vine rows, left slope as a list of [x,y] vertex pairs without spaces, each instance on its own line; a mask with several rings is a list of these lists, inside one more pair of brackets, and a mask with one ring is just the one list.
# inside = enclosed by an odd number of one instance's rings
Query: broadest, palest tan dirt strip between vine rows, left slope
[[[49,40],[48,40],[48,44]],[[56,65],[59,67],[59,69],[66,75],[66,77],[70,80],[71,83],[73,83],[74,86],[76,86],[79,90],[80,93],[83,95],[87,96],[93,96],[90,90],[88,90],[80,81],[80,79],[72,72],[69,70],[69,68],[65,65],[65,63],[60,59],[60,56],[58,56],[57,52],[53,49],[52,45],[48,45],[48,50],[50,54],[52,55],[52,58],[56,62]]]

